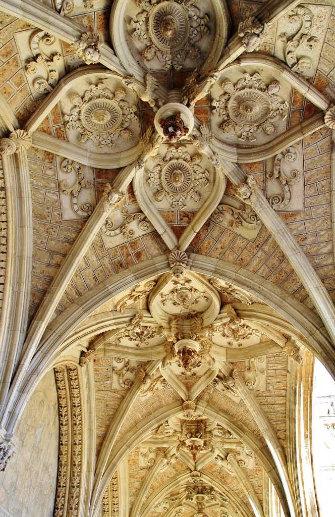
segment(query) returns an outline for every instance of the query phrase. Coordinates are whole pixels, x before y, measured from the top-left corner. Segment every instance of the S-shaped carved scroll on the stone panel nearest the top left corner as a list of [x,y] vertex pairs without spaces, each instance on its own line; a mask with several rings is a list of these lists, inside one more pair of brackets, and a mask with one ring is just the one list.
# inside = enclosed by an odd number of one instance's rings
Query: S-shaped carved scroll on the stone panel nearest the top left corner
[[[52,92],[53,88],[58,83],[58,70],[56,62],[61,58],[59,52],[48,56],[43,51],[43,45],[49,47],[55,42],[55,37],[44,31],[35,32],[30,40],[30,47],[34,57],[27,60],[25,70],[28,74],[35,75],[33,85],[39,94]],[[39,75],[39,74],[42,75]],[[47,75],[47,79],[43,77]]]

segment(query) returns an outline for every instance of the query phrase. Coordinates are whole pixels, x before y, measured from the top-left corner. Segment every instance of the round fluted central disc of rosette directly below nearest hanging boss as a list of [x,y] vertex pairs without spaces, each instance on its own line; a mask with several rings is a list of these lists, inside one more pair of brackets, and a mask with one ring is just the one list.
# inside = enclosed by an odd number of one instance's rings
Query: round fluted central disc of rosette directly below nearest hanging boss
[[172,194],[186,194],[193,186],[193,172],[184,160],[171,160],[162,170],[163,188]]

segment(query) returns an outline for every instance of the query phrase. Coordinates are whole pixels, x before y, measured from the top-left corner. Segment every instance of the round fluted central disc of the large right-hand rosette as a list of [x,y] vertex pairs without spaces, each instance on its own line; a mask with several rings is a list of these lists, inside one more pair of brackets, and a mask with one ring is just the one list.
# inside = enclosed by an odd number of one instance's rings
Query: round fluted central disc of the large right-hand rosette
[[267,95],[252,88],[240,90],[232,95],[227,110],[232,120],[245,126],[262,124],[271,112]]

